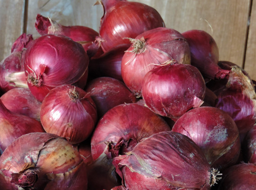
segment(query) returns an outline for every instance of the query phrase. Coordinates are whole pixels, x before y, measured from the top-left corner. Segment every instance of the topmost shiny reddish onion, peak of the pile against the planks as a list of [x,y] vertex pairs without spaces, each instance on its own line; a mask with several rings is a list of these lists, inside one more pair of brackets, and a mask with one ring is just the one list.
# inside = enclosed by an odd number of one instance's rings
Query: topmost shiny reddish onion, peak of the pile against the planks
[[104,52],[119,44],[130,44],[125,37],[154,28],[165,27],[161,15],[148,5],[126,0],[101,0],[104,14],[100,20],[99,35]]

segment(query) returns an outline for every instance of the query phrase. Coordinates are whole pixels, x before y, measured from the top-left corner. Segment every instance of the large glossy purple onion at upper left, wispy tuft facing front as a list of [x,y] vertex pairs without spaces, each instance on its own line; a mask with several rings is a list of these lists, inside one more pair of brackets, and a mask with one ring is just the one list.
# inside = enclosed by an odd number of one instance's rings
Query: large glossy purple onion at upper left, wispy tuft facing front
[[30,43],[24,61],[28,86],[41,102],[52,88],[81,79],[89,65],[82,45],[58,34],[42,35]]

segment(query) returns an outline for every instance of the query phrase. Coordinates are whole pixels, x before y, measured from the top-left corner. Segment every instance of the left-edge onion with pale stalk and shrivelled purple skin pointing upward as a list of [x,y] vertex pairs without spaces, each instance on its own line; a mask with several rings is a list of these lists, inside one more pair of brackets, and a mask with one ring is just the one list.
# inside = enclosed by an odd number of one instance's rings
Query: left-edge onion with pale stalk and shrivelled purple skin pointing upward
[[19,72],[24,71],[23,54],[31,41],[33,41],[31,34],[20,35],[12,45],[11,54],[0,63],[1,91],[7,92],[17,86],[28,87],[25,73]]

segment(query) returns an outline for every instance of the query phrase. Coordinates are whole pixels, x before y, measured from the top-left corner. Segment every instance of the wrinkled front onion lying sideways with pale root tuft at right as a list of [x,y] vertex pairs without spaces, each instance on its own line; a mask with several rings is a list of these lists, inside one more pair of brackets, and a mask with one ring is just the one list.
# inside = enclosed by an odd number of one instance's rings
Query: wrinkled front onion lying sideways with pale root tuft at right
[[163,131],[114,158],[124,189],[210,189],[219,179],[187,136]]

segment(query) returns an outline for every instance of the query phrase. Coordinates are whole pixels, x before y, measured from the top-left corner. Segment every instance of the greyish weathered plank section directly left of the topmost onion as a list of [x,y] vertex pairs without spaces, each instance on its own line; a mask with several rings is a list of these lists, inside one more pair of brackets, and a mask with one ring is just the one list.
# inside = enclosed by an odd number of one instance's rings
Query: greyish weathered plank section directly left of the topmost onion
[[100,17],[103,15],[102,6],[94,6],[96,0],[33,0],[28,4],[27,32],[38,37],[34,25],[36,15],[49,16],[58,23],[82,25],[99,31]]

